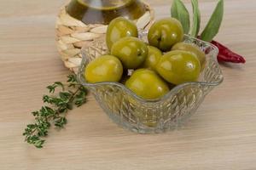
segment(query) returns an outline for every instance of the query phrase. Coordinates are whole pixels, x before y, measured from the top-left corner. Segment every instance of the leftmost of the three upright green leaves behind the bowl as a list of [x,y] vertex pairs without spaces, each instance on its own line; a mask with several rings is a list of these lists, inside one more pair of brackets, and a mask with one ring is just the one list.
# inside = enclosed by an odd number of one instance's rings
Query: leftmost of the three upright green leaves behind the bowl
[[185,34],[189,33],[190,29],[190,20],[189,20],[189,11],[185,7],[182,1],[174,0],[172,3],[171,14],[173,18],[176,18],[183,25],[183,30]]

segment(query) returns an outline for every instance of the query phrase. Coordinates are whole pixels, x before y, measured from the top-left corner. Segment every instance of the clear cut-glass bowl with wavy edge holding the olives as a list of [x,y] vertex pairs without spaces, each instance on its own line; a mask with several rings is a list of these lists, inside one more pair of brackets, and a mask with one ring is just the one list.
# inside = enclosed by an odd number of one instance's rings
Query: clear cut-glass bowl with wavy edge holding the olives
[[[144,42],[147,42],[147,33],[139,33]],[[217,62],[218,48],[189,36],[184,37],[184,42],[194,43],[205,52],[207,60],[204,69],[198,82],[178,85],[160,99],[141,99],[119,82],[86,82],[86,65],[92,59],[108,54],[104,37],[82,48],[83,60],[78,80],[94,94],[103,111],[119,126],[137,133],[163,133],[176,129],[195,113],[206,95],[224,79]]]

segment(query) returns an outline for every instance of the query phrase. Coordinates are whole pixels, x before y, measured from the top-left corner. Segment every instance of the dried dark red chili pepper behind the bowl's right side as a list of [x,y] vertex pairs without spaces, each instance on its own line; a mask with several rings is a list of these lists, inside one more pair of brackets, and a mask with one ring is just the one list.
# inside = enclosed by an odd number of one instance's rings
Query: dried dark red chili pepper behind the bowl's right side
[[246,60],[239,54],[232,52],[219,42],[212,41],[212,44],[218,47],[218,62],[245,63]]

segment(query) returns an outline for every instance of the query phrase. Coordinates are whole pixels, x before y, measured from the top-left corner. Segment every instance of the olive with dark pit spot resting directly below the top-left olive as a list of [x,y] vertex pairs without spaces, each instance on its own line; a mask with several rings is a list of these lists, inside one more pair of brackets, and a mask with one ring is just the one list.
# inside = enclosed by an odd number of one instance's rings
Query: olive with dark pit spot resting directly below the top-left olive
[[147,58],[148,47],[137,37],[124,37],[113,44],[111,54],[120,59],[125,69],[137,69]]

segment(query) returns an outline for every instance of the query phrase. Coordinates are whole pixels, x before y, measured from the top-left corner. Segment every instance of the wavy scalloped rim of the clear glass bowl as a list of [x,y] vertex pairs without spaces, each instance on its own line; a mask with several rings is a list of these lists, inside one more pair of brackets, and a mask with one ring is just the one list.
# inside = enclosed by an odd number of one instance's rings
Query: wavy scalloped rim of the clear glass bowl
[[[148,33],[148,31],[139,31],[140,36],[145,34],[145,33]],[[214,54],[214,59],[212,59],[212,62],[215,62],[215,64],[218,65],[218,61],[217,61],[218,48],[215,45],[213,45],[210,42],[205,42],[205,41],[202,41],[201,39],[191,37],[189,35],[184,35],[184,39],[186,39],[186,38],[193,39],[197,42],[206,43],[207,46],[211,47],[213,49],[212,51],[213,51],[213,54]],[[219,65],[218,65],[218,69],[219,69],[219,72],[220,72],[218,75],[221,76],[221,78],[218,82],[184,82],[184,83],[179,84],[179,85],[175,86],[174,88],[172,88],[170,90],[170,92],[168,92],[164,96],[160,97],[159,99],[143,99],[143,98],[139,97],[137,94],[135,94],[134,92],[132,92],[129,88],[126,88],[125,85],[120,83],[120,82],[96,82],[96,83],[85,82],[85,78],[83,76],[83,70],[84,70],[84,63],[85,63],[87,57],[86,57],[86,53],[84,53],[84,49],[88,48],[88,47],[92,47],[90,44],[92,44],[93,42],[99,41],[99,39],[100,38],[95,39],[94,41],[90,42],[89,44],[87,44],[86,46],[81,48],[82,62],[81,62],[81,65],[79,65],[79,72],[77,74],[77,79],[78,79],[79,83],[82,84],[84,87],[93,88],[93,87],[101,86],[101,85],[118,86],[119,88],[122,88],[126,93],[130,94],[132,97],[139,100],[140,102],[143,102],[143,103],[153,103],[153,102],[157,103],[157,102],[160,102],[162,100],[168,99],[173,94],[176,94],[178,90],[180,90],[180,89],[182,89],[186,86],[201,85],[201,86],[208,86],[208,87],[216,87],[221,82],[224,81],[223,73],[222,73],[222,71],[221,71],[221,69],[219,68]]]

